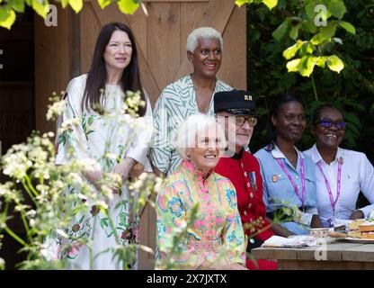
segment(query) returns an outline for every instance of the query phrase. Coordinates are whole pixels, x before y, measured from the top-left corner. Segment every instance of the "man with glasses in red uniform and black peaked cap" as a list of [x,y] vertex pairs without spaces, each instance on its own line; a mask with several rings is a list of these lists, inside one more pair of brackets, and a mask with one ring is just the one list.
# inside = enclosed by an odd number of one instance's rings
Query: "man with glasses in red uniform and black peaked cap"
[[[221,157],[215,172],[230,179],[236,188],[238,210],[249,238],[247,252],[274,235],[270,222],[265,219],[260,164],[245,151],[257,123],[254,110],[255,103],[249,92],[233,90],[214,95],[214,112],[218,122],[225,126],[228,140],[226,156]],[[277,264],[270,260],[252,261],[247,257],[247,267],[274,270]]]

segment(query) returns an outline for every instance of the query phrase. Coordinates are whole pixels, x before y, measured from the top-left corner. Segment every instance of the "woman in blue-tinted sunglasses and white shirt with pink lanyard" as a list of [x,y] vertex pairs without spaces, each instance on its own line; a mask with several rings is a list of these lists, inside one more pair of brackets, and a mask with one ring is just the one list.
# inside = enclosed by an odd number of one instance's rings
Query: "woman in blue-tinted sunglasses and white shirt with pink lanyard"
[[[325,227],[370,216],[374,210],[374,168],[365,154],[340,148],[343,113],[332,104],[316,108],[311,132],[316,144],[304,153],[316,163],[318,215]],[[360,191],[371,205],[356,210]]]

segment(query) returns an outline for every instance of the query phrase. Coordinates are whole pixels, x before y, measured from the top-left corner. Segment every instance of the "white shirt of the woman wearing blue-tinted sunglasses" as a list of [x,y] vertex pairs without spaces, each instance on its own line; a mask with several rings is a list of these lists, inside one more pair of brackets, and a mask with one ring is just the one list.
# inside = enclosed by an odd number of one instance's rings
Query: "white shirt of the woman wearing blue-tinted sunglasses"
[[[316,144],[304,152],[316,163],[316,195],[317,209],[321,220],[348,220],[356,209],[357,198],[360,191],[365,195],[371,205],[361,208],[365,217],[370,216],[374,210],[374,168],[364,153],[338,148],[334,162],[327,164],[319,154]],[[340,197],[333,206],[327,192],[325,178],[317,163],[320,162],[325,177],[330,184],[333,199],[337,194],[337,177],[339,159],[342,157],[342,175]]]

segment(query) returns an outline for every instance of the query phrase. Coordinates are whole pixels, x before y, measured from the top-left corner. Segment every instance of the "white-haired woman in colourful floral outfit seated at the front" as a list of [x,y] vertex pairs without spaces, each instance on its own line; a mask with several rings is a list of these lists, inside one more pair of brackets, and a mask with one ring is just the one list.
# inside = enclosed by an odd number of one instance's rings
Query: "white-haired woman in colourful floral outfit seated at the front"
[[157,269],[245,269],[245,235],[231,182],[214,172],[224,132],[214,118],[190,116],[174,146],[183,161],[156,200]]

